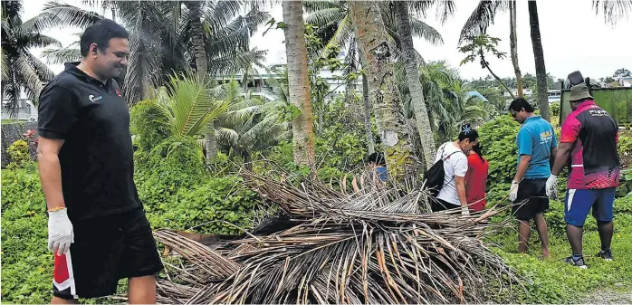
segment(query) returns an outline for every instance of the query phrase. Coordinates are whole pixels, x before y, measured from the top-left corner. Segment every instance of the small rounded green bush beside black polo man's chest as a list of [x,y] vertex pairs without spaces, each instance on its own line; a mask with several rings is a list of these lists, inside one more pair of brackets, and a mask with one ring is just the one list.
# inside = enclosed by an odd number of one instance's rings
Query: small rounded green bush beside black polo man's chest
[[167,118],[156,100],[141,100],[129,110],[129,130],[140,150],[150,151],[168,137]]

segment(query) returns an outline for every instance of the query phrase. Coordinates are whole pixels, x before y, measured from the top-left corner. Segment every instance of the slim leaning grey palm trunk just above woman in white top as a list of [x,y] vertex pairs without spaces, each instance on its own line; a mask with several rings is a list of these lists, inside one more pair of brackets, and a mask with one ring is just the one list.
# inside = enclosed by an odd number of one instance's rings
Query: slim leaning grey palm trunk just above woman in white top
[[399,42],[401,43],[402,59],[406,69],[406,79],[410,90],[411,103],[415,111],[415,122],[421,148],[424,153],[426,167],[432,167],[435,163],[435,139],[432,137],[430,119],[426,110],[424,100],[424,90],[419,81],[419,66],[415,58],[415,47],[413,45],[413,33],[410,30],[410,16],[408,13],[408,3],[406,1],[395,1],[397,14],[397,30],[399,32]]

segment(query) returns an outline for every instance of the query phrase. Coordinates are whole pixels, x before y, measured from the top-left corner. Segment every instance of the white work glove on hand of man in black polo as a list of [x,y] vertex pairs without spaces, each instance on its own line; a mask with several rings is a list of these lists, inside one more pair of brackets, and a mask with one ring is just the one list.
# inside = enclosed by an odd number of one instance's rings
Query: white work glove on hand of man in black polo
[[66,209],[48,213],[48,251],[57,255],[68,252],[74,243],[72,223]]

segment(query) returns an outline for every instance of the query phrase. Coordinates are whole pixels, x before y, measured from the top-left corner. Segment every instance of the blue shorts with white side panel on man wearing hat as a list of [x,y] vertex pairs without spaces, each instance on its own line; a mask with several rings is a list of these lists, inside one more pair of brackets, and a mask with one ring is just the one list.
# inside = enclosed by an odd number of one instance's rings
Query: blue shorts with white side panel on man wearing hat
[[567,224],[584,226],[592,208],[592,216],[599,222],[611,222],[616,191],[616,187],[567,190],[564,201],[564,220]]

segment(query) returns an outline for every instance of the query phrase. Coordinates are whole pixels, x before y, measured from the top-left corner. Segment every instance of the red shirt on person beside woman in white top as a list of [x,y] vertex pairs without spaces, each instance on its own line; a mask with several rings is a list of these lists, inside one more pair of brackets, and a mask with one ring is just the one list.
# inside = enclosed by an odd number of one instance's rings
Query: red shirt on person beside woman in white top
[[467,173],[465,174],[465,197],[470,209],[474,212],[483,211],[485,208],[485,185],[487,184],[487,174],[489,162],[478,154],[473,153],[467,156]]

